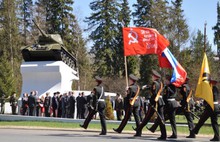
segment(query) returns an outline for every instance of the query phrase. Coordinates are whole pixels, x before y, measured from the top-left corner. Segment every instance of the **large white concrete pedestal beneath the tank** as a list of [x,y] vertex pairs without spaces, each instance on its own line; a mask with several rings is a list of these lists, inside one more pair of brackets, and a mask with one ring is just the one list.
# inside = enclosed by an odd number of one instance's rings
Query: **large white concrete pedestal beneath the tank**
[[62,61],[23,62],[21,65],[22,93],[38,91],[38,96],[46,92],[72,90],[72,81],[79,80],[77,72]]

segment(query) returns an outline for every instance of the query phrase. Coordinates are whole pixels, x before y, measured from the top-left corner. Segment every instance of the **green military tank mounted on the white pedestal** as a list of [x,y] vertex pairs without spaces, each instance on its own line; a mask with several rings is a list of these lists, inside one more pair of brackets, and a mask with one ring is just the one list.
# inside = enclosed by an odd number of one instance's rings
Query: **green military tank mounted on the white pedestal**
[[63,61],[68,66],[76,70],[76,58],[67,51],[63,45],[62,38],[59,34],[46,34],[33,21],[40,31],[36,44],[21,48],[23,59],[29,61]]

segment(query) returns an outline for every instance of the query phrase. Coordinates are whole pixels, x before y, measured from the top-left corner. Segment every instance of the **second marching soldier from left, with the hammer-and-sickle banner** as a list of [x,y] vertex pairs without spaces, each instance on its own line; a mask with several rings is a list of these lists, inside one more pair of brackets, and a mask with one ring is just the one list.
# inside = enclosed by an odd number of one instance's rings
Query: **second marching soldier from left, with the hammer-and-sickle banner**
[[119,127],[117,129],[113,128],[113,130],[117,133],[121,133],[122,130],[124,129],[124,127],[126,126],[128,120],[130,118],[130,115],[131,115],[131,113],[130,113],[131,110],[134,115],[136,126],[138,126],[140,124],[140,117],[139,117],[139,110],[138,110],[139,106],[140,106],[140,101],[139,101],[138,96],[135,98],[135,96],[139,94],[139,90],[140,90],[139,86],[137,85],[137,80],[138,80],[138,78],[136,76],[134,76],[133,74],[129,75],[130,85],[127,90],[127,99],[130,102],[133,99],[135,99],[135,100],[133,100],[134,104],[131,104],[131,103],[127,104],[124,119],[122,120]]

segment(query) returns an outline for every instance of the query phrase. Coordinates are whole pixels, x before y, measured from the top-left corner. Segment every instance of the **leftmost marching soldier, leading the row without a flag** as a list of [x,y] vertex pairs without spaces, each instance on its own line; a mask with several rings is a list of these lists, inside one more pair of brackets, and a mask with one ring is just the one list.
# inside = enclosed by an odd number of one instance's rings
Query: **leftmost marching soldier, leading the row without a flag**
[[101,122],[102,131],[100,135],[106,135],[107,129],[106,129],[106,122],[105,122],[105,91],[102,86],[102,78],[99,76],[95,77],[97,86],[93,89],[93,109],[89,112],[88,116],[86,117],[83,125],[80,125],[80,127],[83,127],[84,129],[87,129],[89,122],[92,120],[93,116],[99,112],[99,118]]

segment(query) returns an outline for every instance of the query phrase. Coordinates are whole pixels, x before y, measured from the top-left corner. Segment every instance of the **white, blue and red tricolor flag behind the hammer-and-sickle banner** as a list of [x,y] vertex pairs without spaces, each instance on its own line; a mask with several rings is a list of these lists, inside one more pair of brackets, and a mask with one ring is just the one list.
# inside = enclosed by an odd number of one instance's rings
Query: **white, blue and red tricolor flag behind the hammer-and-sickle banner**
[[180,87],[185,82],[187,73],[168,48],[165,48],[163,53],[159,55],[159,64],[162,68],[173,68],[170,81],[173,85]]

